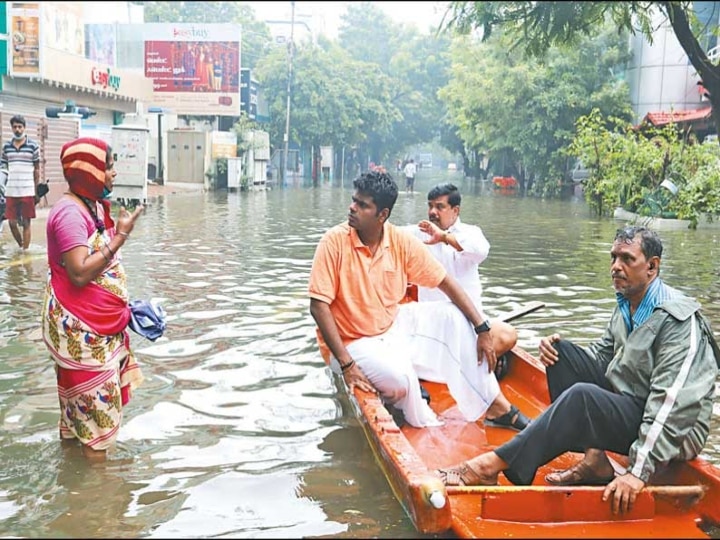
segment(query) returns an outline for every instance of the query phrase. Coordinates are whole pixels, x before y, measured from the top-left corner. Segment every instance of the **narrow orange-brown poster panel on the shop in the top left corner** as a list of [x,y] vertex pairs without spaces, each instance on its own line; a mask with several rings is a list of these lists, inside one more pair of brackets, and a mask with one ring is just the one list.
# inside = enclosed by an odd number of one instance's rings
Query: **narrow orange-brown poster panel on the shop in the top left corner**
[[40,3],[8,2],[8,58],[13,77],[40,76]]

